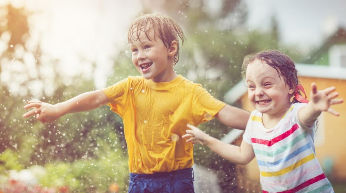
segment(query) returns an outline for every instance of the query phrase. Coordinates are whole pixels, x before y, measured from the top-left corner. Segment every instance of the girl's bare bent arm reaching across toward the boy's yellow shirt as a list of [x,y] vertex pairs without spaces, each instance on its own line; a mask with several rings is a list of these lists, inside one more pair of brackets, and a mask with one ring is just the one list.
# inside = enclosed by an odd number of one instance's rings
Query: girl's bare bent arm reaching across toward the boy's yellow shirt
[[188,138],[186,142],[200,143],[207,145],[213,152],[219,154],[221,157],[228,161],[235,162],[237,164],[246,165],[255,157],[252,145],[246,143],[244,140],[239,146],[227,144],[220,140],[207,135],[199,128],[188,125],[191,130],[186,130],[185,135],[182,138]]

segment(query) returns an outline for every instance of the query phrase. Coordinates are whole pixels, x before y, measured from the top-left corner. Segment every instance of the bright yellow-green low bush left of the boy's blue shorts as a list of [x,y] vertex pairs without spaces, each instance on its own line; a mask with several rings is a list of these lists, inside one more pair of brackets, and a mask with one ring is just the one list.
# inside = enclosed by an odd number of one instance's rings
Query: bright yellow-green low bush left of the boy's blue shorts
[[[115,136],[114,133],[110,135]],[[44,187],[69,186],[75,192],[106,192],[109,185],[116,183],[120,192],[126,191],[128,178],[127,156],[119,145],[113,147],[103,140],[98,140],[98,159],[86,157],[75,162],[49,163],[45,165],[46,173],[40,176]]]

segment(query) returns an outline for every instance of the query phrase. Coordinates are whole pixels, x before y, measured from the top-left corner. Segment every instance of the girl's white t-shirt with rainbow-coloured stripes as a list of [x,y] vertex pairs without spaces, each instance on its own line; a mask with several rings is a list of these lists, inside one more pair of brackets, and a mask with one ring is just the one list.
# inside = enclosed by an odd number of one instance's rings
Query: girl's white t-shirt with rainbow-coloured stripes
[[297,118],[298,109],[305,105],[292,104],[271,129],[263,126],[262,113],[251,113],[243,140],[254,149],[263,193],[334,192],[316,158],[316,124],[307,127]]

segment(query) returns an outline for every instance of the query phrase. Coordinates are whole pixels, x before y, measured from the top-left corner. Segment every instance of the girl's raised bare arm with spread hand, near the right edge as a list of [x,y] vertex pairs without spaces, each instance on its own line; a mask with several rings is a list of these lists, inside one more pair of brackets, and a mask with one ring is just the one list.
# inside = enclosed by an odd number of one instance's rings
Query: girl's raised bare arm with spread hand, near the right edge
[[315,83],[311,84],[310,102],[298,110],[299,121],[306,126],[311,126],[322,111],[327,111],[332,115],[339,116],[339,113],[330,106],[343,103],[343,99],[335,99],[339,93],[334,92],[335,87],[324,90],[317,90]]

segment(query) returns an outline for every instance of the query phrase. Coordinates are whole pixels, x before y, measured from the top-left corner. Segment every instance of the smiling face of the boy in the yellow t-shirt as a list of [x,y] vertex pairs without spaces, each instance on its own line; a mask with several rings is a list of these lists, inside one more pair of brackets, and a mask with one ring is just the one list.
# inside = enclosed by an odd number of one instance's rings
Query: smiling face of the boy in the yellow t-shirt
[[[134,31],[136,33],[136,31]],[[176,54],[176,41],[167,49],[163,41],[155,37],[154,30],[141,31],[136,41],[132,41],[132,62],[145,79],[156,83],[168,82],[177,75],[173,70],[173,57]]]

